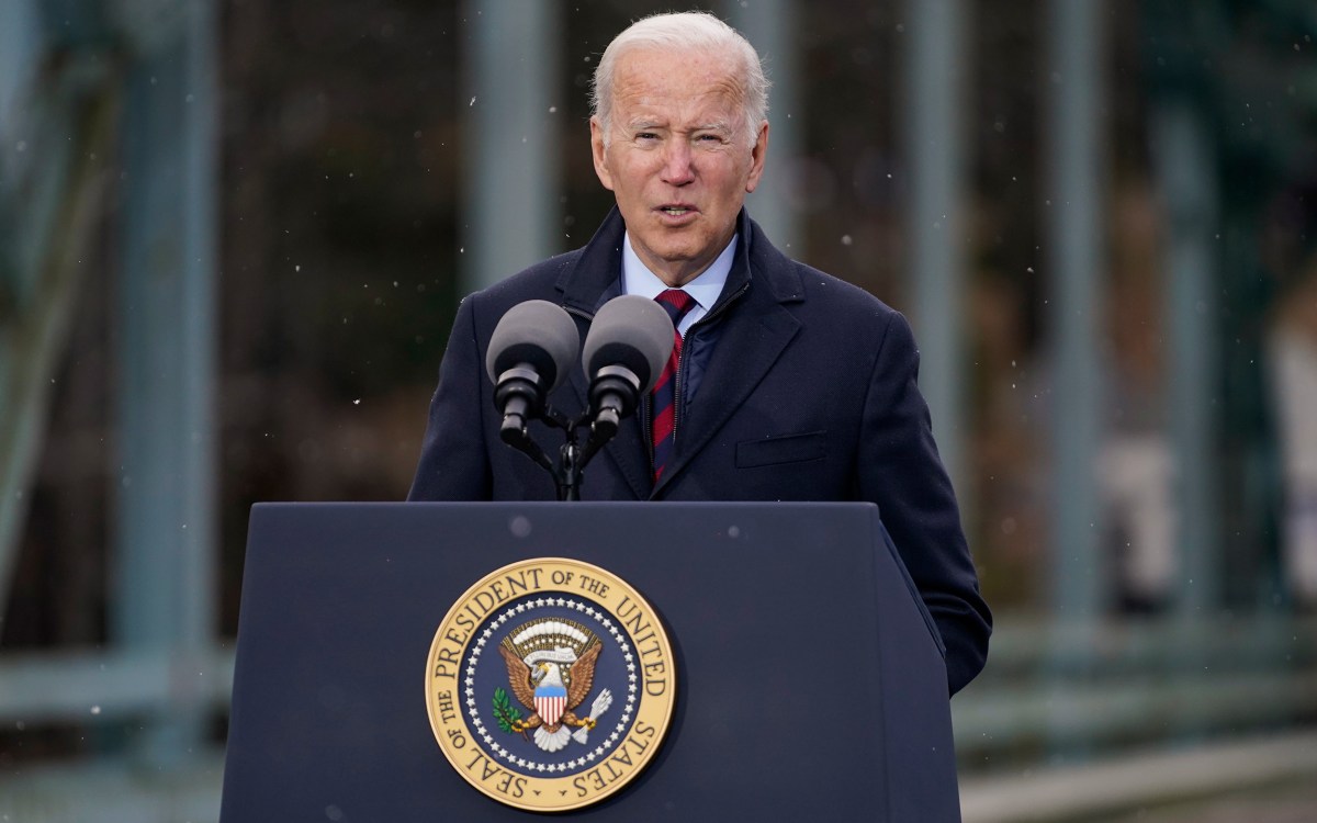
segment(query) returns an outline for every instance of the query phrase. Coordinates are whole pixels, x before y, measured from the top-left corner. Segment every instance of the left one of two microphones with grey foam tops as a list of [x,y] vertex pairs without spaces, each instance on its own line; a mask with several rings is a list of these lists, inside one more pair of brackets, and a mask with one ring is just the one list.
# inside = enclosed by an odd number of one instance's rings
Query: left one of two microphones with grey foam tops
[[548,300],[518,303],[503,315],[485,357],[494,406],[503,413],[503,442],[525,438],[527,421],[544,413],[547,398],[566,379],[579,348],[576,321]]

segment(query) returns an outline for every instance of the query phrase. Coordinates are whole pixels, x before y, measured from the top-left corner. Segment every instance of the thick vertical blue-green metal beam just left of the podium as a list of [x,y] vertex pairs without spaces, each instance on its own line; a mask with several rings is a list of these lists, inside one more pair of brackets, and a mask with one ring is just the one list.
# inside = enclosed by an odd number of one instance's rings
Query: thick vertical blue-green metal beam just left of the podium
[[[179,38],[140,42],[126,76],[111,639],[186,658],[216,632],[219,25],[211,1],[178,8]],[[203,707],[170,708],[140,740],[148,762],[203,733]]]

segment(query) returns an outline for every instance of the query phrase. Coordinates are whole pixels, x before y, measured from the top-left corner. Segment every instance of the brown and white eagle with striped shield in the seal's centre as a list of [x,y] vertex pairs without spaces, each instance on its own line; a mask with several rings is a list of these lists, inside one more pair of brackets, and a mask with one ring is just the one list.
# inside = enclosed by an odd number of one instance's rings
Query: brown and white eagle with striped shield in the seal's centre
[[572,740],[583,744],[598,718],[612,704],[612,693],[603,689],[590,704],[589,715],[577,714],[590,695],[602,648],[599,639],[574,620],[532,620],[515,628],[498,650],[507,664],[512,695],[531,715],[523,719],[507,693],[495,689],[494,715],[499,728],[523,737],[535,730],[535,744],[545,752],[557,752]]

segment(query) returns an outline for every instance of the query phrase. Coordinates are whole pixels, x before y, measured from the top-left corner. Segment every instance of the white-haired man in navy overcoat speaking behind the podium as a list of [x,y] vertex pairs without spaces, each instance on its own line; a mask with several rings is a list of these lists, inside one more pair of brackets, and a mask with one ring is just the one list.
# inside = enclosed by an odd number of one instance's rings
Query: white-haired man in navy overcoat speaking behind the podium
[[[711,14],[644,18],[608,45],[593,104],[594,170],[616,208],[583,248],[462,302],[408,498],[553,499],[553,481],[499,438],[482,367],[495,325],[539,299],[585,337],[610,299],[656,299],[681,337],[670,383],[623,421],[581,498],[876,503],[957,691],[982,668],[992,619],[914,337],[878,299],[785,257],[747,215],[769,145],[755,49]],[[568,413],[587,396],[572,382],[552,395]]]

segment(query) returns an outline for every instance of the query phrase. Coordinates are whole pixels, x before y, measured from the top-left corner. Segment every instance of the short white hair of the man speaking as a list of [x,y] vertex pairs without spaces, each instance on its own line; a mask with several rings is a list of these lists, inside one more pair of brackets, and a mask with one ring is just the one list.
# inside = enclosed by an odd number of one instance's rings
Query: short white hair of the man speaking
[[759,53],[749,41],[718,17],[707,12],[678,12],[655,14],[631,24],[612,38],[594,70],[590,91],[590,111],[603,128],[605,145],[608,142],[612,115],[612,79],[618,58],[633,49],[665,49],[669,51],[719,51],[740,63],[734,71],[741,88],[745,138],[755,145],[759,126],[768,117],[768,78]]

